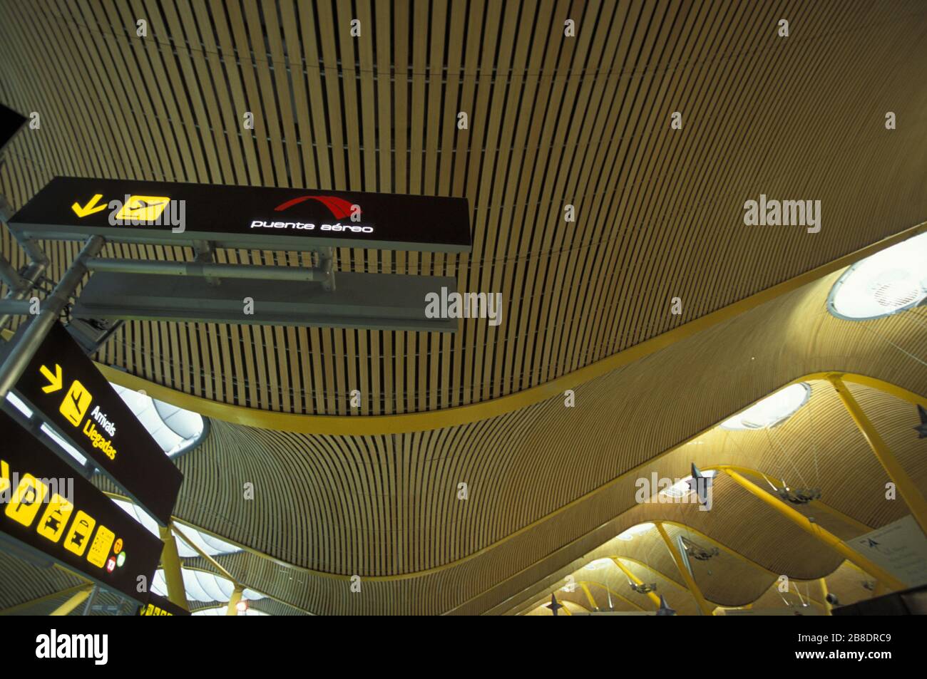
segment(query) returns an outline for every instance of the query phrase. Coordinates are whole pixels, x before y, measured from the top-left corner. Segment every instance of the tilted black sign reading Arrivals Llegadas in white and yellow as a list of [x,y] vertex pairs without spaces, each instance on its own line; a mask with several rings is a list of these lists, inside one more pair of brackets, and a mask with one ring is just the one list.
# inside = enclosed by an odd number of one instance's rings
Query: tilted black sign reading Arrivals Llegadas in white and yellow
[[162,525],[184,476],[56,323],[14,391]]

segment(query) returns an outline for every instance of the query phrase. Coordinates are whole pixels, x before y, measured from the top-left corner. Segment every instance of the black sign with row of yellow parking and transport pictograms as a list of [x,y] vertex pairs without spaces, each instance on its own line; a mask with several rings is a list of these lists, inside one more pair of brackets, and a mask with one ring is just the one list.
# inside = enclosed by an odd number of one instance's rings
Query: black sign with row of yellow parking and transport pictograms
[[163,544],[0,412],[0,533],[139,603]]

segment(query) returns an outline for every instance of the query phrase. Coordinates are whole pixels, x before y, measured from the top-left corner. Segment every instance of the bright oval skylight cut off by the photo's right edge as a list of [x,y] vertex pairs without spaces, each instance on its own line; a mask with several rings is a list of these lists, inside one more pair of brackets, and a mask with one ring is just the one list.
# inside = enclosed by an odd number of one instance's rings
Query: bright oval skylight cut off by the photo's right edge
[[927,299],[927,233],[887,247],[844,271],[827,308],[844,321],[870,321]]

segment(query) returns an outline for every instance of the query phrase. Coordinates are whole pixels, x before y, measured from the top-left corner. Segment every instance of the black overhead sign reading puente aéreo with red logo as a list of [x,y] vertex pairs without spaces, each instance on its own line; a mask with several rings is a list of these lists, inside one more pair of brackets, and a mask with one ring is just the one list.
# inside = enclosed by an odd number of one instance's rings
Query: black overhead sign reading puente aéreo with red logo
[[43,239],[469,252],[465,198],[56,177],[9,220]]

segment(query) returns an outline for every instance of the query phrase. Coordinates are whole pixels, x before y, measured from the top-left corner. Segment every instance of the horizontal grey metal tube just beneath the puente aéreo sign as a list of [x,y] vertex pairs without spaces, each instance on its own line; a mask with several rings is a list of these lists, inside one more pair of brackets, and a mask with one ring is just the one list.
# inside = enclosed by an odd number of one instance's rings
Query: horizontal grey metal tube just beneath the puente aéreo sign
[[87,269],[110,273],[150,273],[161,276],[199,276],[202,278],[256,278],[266,281],[324,282],[321,269],[273,267],[260,264],[211,264],[209,262],[162,262],[145,259],[89,260]]

